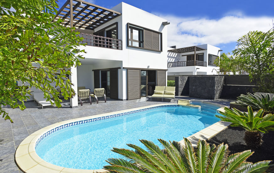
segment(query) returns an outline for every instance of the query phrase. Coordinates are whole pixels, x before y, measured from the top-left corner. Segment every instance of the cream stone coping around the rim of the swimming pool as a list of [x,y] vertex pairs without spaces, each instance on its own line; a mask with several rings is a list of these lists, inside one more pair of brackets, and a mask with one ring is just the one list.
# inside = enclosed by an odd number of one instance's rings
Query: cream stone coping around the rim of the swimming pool
[[[224,105],[218,104],[218,103],[212,103],[212,102],[207,102],[203,100],[188,100],[189,102],[205,102],[207,104],[212,104],[212,105],[217,105],[220,108],[217,109],[217,111],[224,111]],[[132,109],[126,109],[122,111],[116,111],[116,112],[110,112],[110,113],[104,113],[104,114],[99,114],[99,115],[92,115],[92,116],[87,116],[87,117],[82,117],[82,118],[75,118],[75,119],[70,119],[66,121],[62,121],[59,123],[51,124],[45,128],[41,128],[40,130],[34,132],[33,134],[30,134],[27,138],[25,138],[17,147],[14,155],[14,161],[16,165],[19,167],[20,170],[23,172],[27,173],[36,173],[36,172],[47,172],[47,173],[95,173],[95,172],[104,172],[104,169],[97,169],[97,170],[82,170],[82,169],[72,169],[72,168],[65,168],[62,166],[57,166],[50,164],[43,159],[41,159],[35,152],[35,148],[37,146],[38,140],[40,140],[41,136],[43,136],[45,133],[58,128],[60,126],[67,125],[69,123],[75,123],[83,120],[88,120],[88,119],[96,119],[96,118],[101,118],[102,117],[107,117],[111,115],[118,115],[118,114],[124,114],[128,112],[137,111],[137,110],[142,110],[142,109],[147,109],[147,108],[153,108],[153,107],[158,107],[158,106],[163,106],[164,107],[167,105],[178,105],[176,103],[171,103],[171,104],[155,104],[155,105],[150,105],[150,106],[145,106],[145,107],[137,107],[137,108],[132,108]],[[184,105],[180,105],[184,106]],[[190,106],[185,106],[185,107],[191,107]],[[196,107],[193,107],[196,108]],[[150,110],[150,109],[149,109]],[[140,111],[141,112],[141,111]],[[127,115],[127,114],[126,114]],[[123,115],[121,115],[123,116]],[[89,121],[92,122],[92,121]],[[77,125],[77,124],[74,124]],[[228,122],[223,122],[223,121],[218,121],[217,123],[214,123],[207,128],[204,128],[200,130],[199,132],[192,134],[191,136],[187,137],[187,139],[190,140],[191,144],[193,146],[196,146],[196,143],[199,139],[201,140],[207,140],[218,134],[219,132],[223,131],[226,129],[230,123]],[[179,141],[181,144],[184,144],[184,140]],[[39,143],[39,142],[38,142]]]

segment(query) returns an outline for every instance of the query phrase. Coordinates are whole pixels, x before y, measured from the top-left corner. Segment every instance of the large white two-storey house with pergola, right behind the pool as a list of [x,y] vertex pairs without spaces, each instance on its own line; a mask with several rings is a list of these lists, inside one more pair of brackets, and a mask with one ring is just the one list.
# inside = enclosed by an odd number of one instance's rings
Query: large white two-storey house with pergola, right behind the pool
[[[123,2],[107,9],[82,0],[68,0],[57,18],[76,27],[87,43],[79,47],[86,52],[82,65],[71,69],[75,91],[79,86],[105,88],[110,98],[130,100],[166,86],[165,19]],[[75,106],[77,97],[71,98]]]

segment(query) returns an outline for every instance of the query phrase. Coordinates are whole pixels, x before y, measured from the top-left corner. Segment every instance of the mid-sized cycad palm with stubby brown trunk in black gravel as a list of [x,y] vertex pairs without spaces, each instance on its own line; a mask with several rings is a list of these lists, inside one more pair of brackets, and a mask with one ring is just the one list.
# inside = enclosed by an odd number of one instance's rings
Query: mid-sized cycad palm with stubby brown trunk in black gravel
[[262,144],[262,133],[268,133],[268,130],[274,131],[274,114],[266,114],[263,116],[264,110],[260,109],[257,113],[253,113],[250,106],[247,107],[248,113],[241,112],[236,108],[233,110],[225,107],[222,115],[215,115],[222,121],[231,122],[231,126],[242,127],[245,129],[244,141],[252,147],[258,148]]

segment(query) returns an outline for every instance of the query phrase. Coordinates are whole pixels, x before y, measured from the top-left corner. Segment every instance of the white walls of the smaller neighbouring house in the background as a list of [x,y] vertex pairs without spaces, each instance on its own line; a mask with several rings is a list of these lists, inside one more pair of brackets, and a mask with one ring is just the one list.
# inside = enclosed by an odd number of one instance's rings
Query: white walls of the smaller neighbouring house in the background
[[[208,56],[215,55],[220,56],[220,48],[212,46],[212,45],[197,45],[197,47],[203,48],[205,50],[196,51],[197,54],[204,54],[204,62],[206,62],[206,66],[180,66],[180,67],[169,67],[167,71],[168,76],[174,75],[216,75],[218,74],[219,67],[209,65]],[[172,48],[169,48],[172,50]],[[167,62],[176,62],[176,61],[186,61],[186,55],[193,55],[194,52],[186,52],[186,53],[174,53],[168,51],[168,60]],[[215,70],[214,70],[215,69]]]

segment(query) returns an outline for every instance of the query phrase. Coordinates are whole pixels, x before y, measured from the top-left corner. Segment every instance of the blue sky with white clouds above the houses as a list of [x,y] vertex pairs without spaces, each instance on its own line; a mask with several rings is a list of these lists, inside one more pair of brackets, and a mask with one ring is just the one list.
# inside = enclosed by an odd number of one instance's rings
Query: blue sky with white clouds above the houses
[[[65,0],[59,0],[59,6]],[[112,8],[120,0],[86,0]],[[211,44],[231,52],[237,39],[250,30],[267,31],[274,20],[274,0],[124,0],[170,22],[168,46]]]

